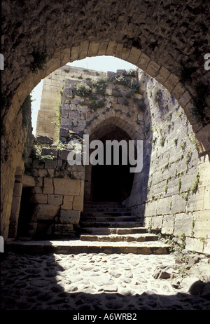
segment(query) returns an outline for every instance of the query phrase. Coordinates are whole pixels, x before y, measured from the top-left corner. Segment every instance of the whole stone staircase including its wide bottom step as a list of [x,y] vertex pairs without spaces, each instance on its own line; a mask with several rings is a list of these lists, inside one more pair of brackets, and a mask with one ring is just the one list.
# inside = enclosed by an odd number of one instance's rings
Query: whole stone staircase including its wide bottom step
[[48,241],[10,241],[7,252],[18,253],[134,253],[167,254],[170,245],[148,234],[121,203],[86,203],[80,217],[80,238]]

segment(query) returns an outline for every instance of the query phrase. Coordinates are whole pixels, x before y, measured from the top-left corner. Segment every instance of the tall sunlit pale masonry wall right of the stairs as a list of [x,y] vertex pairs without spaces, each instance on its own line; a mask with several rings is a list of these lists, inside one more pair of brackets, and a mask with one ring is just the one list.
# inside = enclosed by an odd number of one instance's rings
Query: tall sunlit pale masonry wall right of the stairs
[[[144,169],[127,204],[144,225],[185,237],[186,248],[209,252],[209,157],[199,156],[186,115],[160,83],[139,74],[146,102]],[[158,92],[159,90],[159,92]]]

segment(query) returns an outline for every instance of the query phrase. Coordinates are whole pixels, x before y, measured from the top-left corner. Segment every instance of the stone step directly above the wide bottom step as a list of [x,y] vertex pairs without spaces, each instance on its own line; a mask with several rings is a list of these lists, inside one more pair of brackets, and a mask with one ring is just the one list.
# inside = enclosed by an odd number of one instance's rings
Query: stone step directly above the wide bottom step
[[155,234],[109,234],[109,235],[80,235],[81,241],[98,241],[98,242],[146,242],[158,241],[158,235]]

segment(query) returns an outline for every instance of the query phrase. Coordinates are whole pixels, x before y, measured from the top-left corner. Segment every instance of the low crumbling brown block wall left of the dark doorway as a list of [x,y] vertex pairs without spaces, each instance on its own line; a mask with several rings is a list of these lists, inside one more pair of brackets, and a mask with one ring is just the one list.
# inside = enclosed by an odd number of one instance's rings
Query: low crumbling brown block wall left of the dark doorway
[[[71,150],[36,142],[33,161],[24,182],[31,190],[32,212],[28,234],[32,238],[73,238],[83,210],[84,166],[69,166]],[[27,211],[25,211],[27,212]]]

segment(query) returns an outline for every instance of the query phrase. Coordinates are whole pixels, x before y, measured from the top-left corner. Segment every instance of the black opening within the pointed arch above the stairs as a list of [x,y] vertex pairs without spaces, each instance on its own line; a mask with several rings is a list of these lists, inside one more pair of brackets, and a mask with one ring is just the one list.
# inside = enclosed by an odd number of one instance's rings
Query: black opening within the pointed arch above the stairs
[[[131,140],[130,136],[117,126],[113,130],[100,138],[104,144],[104,161],[106,158],[106,140]],[[91,191],[92,201],[118,201],[122,202],[130,196],[134,173],[130,173],[129,161],[127,165],[122,164],[122,149],[119,147],[119,165],[113,164],[113,154],[111,165],[92,166]],[[127,159],[128,160],[128,159]]]

